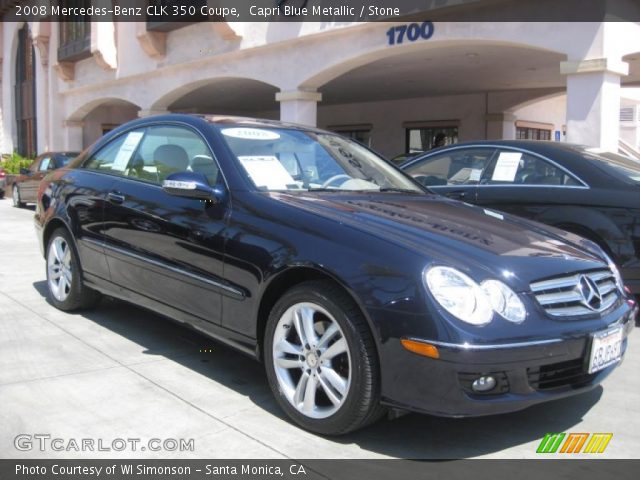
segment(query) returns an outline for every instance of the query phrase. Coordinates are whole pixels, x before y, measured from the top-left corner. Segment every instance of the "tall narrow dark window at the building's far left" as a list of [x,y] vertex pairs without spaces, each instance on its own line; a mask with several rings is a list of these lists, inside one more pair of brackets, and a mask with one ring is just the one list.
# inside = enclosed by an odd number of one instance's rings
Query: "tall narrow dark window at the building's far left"
[[18,32],[16,58],[16,126],[17,152],[25,157],[35,157],[36,138],[36,63],[29,27],[25,24]]

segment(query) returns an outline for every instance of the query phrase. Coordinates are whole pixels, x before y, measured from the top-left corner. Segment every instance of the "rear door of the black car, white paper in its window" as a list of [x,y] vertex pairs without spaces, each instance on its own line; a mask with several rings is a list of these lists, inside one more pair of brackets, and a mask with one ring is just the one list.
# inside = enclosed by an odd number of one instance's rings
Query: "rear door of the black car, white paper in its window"
[[477,189],[476,203],[539,219],[551,206],[580,203],[586,187],[552,160],[533,152],[499,148]]

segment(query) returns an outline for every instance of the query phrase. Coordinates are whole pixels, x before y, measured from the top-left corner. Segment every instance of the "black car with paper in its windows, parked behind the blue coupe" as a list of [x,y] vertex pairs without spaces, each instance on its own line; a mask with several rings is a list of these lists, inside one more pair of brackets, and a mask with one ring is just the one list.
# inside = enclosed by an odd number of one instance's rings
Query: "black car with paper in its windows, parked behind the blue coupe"
[[586,237],[640,294],[640,164],[581,145],[461,143],[401,166],[432,191]]

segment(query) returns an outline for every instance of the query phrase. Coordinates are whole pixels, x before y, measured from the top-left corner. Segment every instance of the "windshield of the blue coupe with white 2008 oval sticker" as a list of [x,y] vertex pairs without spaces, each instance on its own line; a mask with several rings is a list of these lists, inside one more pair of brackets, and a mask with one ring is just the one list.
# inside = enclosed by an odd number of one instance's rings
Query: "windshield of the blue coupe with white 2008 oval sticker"
[[423,193],[383,158],[338,135],[253,126],[220,133],[259,190]]

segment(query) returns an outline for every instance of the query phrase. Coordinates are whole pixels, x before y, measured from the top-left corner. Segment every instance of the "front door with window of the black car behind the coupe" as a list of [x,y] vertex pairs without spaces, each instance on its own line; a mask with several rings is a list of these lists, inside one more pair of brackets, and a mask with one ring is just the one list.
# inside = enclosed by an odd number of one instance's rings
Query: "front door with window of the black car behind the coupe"
[[494,152],[493,147],[454,147],[416,159],[403,169],[436,193],[474,203],[476,186]]

